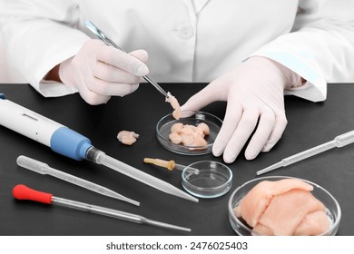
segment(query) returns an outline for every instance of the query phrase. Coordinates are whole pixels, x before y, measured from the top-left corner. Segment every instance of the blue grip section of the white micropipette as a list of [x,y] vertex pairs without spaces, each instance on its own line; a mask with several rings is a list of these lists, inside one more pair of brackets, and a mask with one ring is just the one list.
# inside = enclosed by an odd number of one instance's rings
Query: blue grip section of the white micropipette
[[93,145],[78,132],[67,127],[57,129],[51,138],[51,149],[76,161],[87,159],[86,153]]

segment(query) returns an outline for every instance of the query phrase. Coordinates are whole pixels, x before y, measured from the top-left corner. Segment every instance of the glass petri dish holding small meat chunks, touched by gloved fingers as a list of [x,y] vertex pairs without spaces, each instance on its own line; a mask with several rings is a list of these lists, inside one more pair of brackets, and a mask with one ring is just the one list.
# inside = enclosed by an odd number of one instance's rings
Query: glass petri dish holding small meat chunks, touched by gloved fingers
[[[209,126],[210,134],[205,136],[207,142],[206,147],[198,146],[185,146],[182,144],[175,144],[170,141],[169,135],[171,127],[174,123],[182,122],[182,124],[189,124],[197,126],[199,123],[204,122]],[[175,153],[183,155],[201,155],[211,152],[212,144],[221,129],[222,121],[217,116],[208,112],[181,112],[181,118],[176,120],[173,118],[172,113],[165,115],[156,125],[156,135],[158,141],[164,148]]]

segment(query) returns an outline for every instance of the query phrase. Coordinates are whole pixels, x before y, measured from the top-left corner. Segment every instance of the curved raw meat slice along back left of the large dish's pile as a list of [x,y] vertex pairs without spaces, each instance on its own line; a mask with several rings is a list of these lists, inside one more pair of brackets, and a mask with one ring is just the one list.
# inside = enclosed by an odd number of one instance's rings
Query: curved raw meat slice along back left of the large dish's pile
[[296,179],[261,181],[242,198],[239,205],[234,209],[235,214],[237,217],[242,217],[253,228],[274,196],[293,189],[310,191],[313,190],[313,187]]

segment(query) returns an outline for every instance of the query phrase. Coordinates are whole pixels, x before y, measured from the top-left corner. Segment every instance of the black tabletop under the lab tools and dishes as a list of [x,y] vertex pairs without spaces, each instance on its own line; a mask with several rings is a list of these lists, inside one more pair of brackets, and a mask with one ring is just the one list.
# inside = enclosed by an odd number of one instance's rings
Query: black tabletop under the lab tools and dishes
[[[204,85],[162,83],[162,87],[175,95],[181,104]],[[229,164],[233,171],[231,191],[243,182],[256,178],[256,171],[354,130],[354,84],[331,83],[328,89],[328,98],[323,103],[311,103],[295,96],[285,97],[289,123],[280,142],[270,152],[261,153],[253,161],[245,160],[241,153],[235,162]],[[96,148],[113,158],[181,190],[179,171],[167,171],[145,164],[143,158],[174,160],[181,164],[202,160],[222,161],[212,154],[185,156],[162,147],[156,138],[155,125],[163,115],[172,112],[172,108],[149,84],[141,84],[135,93],[114,97],[109,103],[98,106],[84,103],[78,94],[44,98],[28,84],[0,84],[0,93],[5,93],[6,99],[14,103],[82,133]],[[211,112],[222,119],[225,106],[226,103],[211,103],[202,111]],[[132,146],[118,142],[116,135],[122,130],[139,133],[138,141]],[[54,169],[101,184],[141,201],[141,206],[135,207],[54,177],[27,171],[17,166],[15,161],[19,155],[44,161]],[[354,235],[354,145],[325,151],[266,175],[299,177],[329,190],[339,201],[342,211],[338,235]],[[132,212],[152,220],[189,227],[192,231],[166,230],[62,206],[15,200],[12,190],[20,183],[35,190],[53,193],[56,197]],[[235,235],[227,210],[231,191],[220,198],[200,199],[198,203],[183,200],[93,162],[66,158],[43,144],[0,126],[0,235],[3,236]]]

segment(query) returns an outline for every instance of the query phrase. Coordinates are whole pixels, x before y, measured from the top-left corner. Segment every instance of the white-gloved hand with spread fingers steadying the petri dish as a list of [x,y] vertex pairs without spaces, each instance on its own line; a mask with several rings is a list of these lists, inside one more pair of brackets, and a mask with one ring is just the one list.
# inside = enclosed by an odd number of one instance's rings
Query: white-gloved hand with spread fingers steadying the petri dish
[[194,94],[181,110],[198,111],[209,103],[227,101],[212,153],[215,156],[223,153],[227,163],[235,161],[257,128],[245,151],[246,159],[252,160],[260,151],[270,151],[280,140],[287,125],[284,89],[300,83],[300,76],[287,67],[254,56]]

